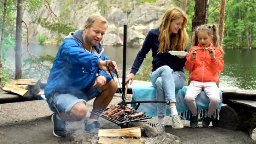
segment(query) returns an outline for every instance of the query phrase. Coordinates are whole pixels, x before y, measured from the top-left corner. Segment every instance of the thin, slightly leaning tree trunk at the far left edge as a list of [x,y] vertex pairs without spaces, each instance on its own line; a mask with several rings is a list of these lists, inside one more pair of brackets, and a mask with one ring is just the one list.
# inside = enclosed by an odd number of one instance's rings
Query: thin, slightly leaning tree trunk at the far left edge
[[4,37],[4,22],[6,17],[6,0],[4,0],[4,12],[3,12],[3,23],[1,28],[1,40],[0,40],[0,83],[2,83],[2,51],[3,51],[3,37]]

